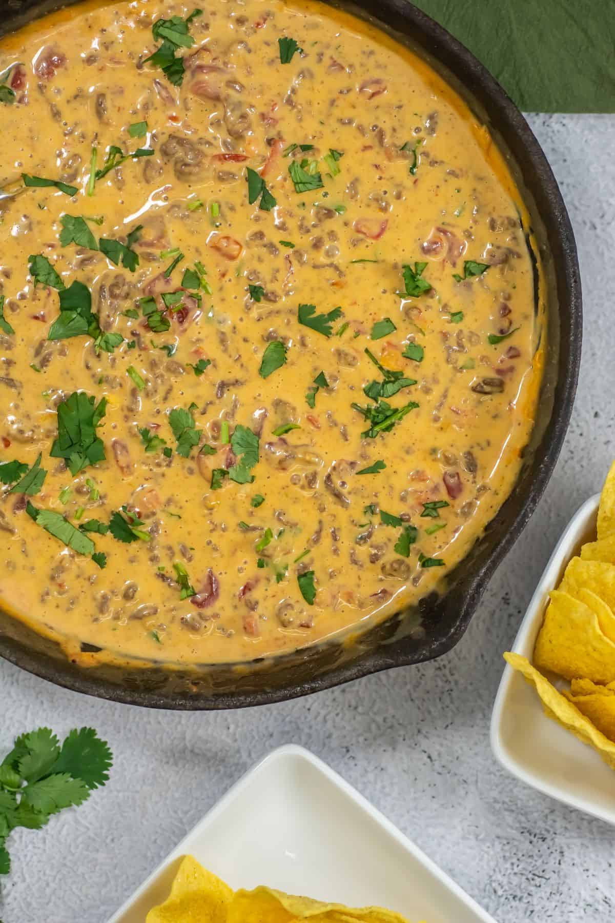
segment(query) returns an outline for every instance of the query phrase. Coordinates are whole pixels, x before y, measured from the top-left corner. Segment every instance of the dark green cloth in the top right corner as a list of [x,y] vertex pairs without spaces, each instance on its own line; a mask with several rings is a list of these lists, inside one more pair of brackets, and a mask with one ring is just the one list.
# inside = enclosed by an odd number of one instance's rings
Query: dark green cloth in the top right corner
[[615,0],[413,2],[525,112],[615,112]]

